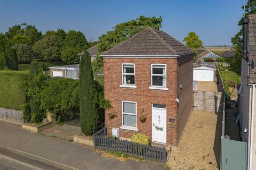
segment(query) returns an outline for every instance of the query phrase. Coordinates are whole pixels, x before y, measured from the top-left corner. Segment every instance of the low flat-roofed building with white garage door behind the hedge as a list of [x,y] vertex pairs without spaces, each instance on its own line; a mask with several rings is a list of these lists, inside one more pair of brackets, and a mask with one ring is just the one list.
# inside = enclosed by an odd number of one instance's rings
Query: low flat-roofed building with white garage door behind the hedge
[[79,78],[79,64],[52,66],[49,69],[51,77]]

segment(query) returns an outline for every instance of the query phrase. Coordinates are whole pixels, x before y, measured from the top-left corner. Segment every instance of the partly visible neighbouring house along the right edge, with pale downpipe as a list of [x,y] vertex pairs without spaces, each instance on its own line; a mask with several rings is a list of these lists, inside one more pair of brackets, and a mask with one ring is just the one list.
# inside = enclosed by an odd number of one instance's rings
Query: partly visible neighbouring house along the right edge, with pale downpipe
[[[248,22],[249,28],[246,30]],[[249,15],[249,20],[244,19],[243,27],[246,30],[243,37],[245,53],[241,66],[241,86],[238,90],[238,119],[242,141],[248,143],[247,169],[252,170],[256,169],[256,15]]]

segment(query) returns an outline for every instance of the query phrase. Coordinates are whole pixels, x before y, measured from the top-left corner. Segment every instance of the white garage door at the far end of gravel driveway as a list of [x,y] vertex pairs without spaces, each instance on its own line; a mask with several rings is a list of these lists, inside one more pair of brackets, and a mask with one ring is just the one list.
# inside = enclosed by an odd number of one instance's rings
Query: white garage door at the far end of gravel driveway
[[193,80],[194,81],[213,81],[214,71],[213,70],[194,70]]

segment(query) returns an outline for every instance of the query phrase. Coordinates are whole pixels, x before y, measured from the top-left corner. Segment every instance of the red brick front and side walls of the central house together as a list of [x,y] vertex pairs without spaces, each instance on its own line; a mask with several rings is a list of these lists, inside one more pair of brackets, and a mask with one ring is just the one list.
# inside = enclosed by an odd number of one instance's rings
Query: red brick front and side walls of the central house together
[[[137,88],[120,87],[122,63],[135,64]],[[166,64],[166,87],[168,90],[149,89],[151,86],[151,64]],[[166,145],[177,146],[182,131],[193,109],[193,54],[178,58],[103,58],[105,98],[113,106],[105,112],[107,133],[119,128],[120,137],[131,138],[134,133],[145,133],[151,140],[151,104],[166,105]],[[182,87],[181,87],[182,84]],[[179,98],[179,104],[175,99]],[[122,126],[122,100],[137,102],[138,131],[120,129]],[[111,119],[108,113],[115,113]],[[139,116],[145,114],[146,122]],[[169,122],[174,119],[175,122]]]

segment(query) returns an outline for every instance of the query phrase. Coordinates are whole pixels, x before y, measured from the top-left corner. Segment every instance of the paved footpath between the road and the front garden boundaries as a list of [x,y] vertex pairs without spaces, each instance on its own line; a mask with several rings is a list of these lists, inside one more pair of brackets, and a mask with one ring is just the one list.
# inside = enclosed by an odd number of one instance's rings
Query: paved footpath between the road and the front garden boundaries
[[[10,147],[14,150],[17,149],[29,153],[30,155],[35,155],[38,158],[47,159],[51,162],[64,164],[81,170],[165,169],[161,163],[146,160],[143,162],[135,162],[134,160],[128,159],[126,162],[120,162],[114,158],[105,158],[102,157],[100,153],[95,153],[94,150],[86,148],[83,145],[13,128],[9,124],[4,124],[1,121],[0,146]],[[3,163],[1,162],[0,166],[1,164]]]

